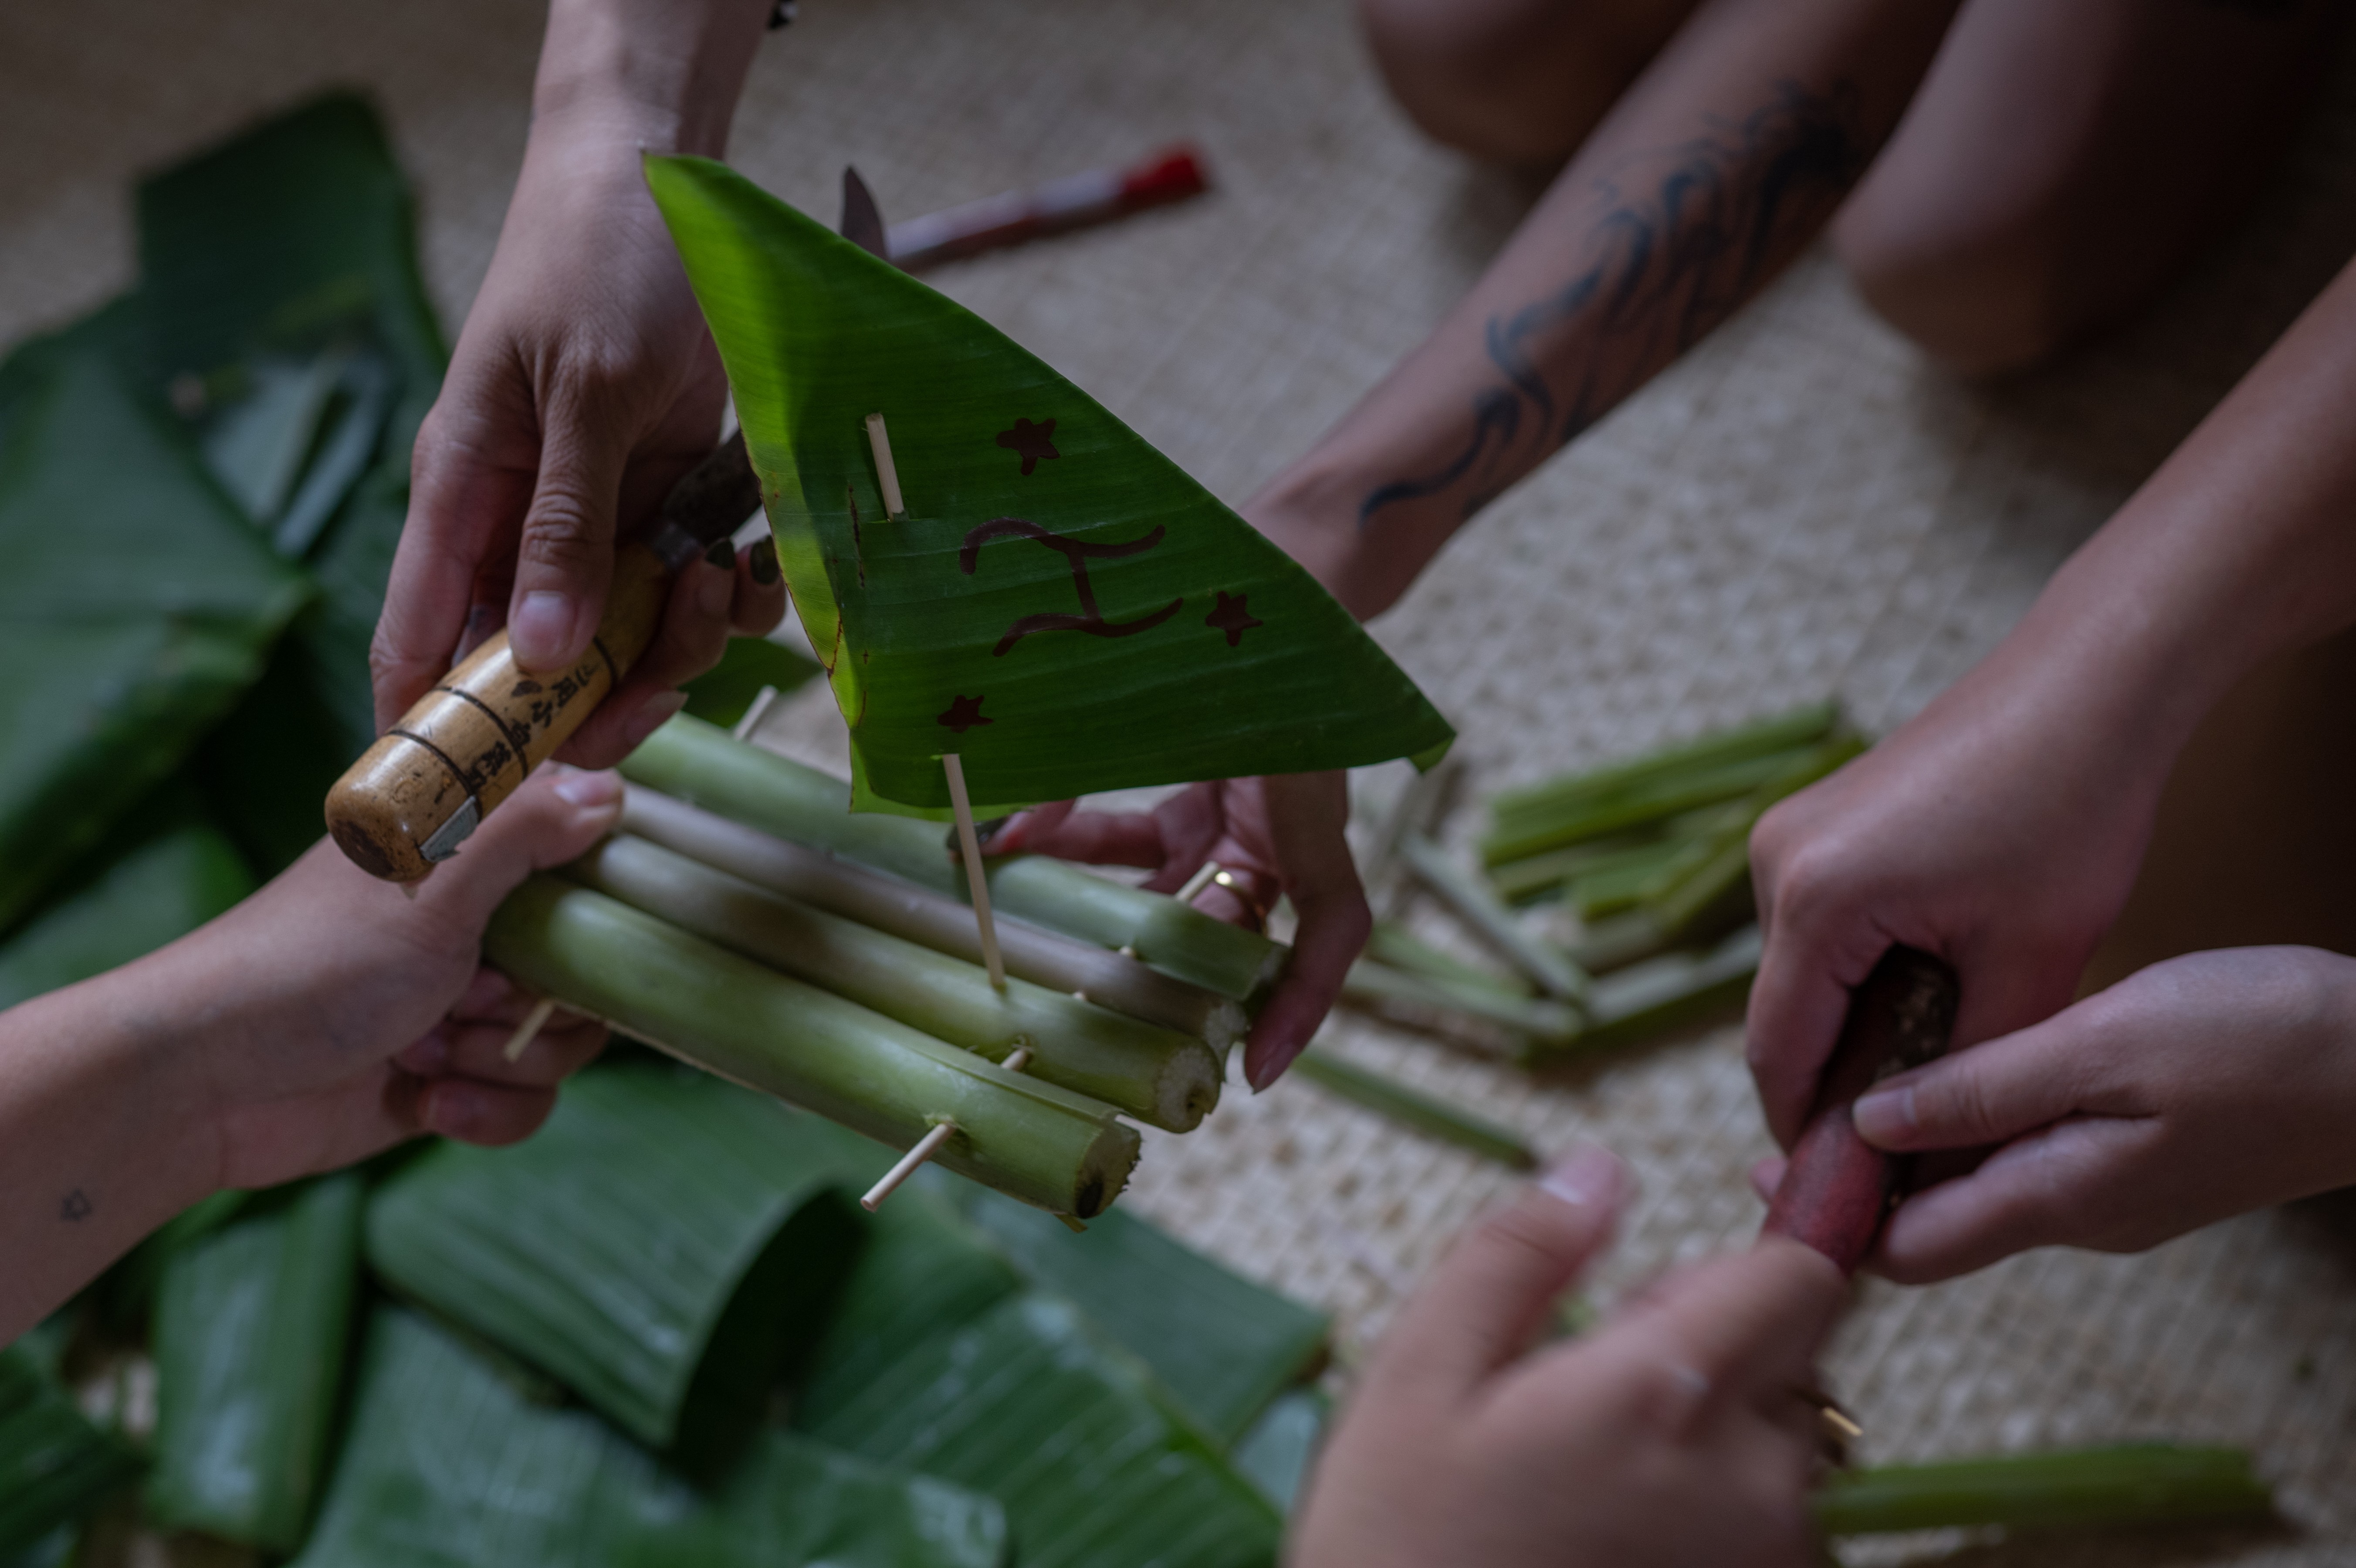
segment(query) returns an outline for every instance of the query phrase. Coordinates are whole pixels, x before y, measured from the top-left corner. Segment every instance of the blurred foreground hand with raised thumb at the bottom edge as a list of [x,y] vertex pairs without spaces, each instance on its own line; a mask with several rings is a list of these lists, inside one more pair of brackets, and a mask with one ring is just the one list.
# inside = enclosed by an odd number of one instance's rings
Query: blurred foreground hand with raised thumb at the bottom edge
[[1588,1149],[1456,1243],[1345,1406],[1293,1568],[1814,1561],[1809,1391],[1838,1269],[1767,1238],[1531,1351],[1621,1189]]

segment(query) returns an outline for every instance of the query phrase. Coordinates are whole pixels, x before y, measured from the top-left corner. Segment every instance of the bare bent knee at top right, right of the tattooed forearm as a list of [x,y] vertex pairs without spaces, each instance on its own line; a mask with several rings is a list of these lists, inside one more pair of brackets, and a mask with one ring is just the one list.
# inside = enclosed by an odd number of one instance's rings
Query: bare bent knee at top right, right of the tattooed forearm
[[1967,374],[2153,299],[2255,193],[2337,0],[1970,0],[1833,228],[1859,290]]

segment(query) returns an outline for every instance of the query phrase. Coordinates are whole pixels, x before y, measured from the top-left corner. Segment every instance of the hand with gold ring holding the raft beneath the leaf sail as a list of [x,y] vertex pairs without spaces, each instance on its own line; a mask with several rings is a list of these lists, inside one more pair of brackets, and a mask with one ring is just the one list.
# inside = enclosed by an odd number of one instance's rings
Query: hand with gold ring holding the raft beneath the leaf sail
[[1190,784],[1152,812],[1081,812],[1074,800],[1041,805],[990,841],[992,855],[1032,850],[1100,866],[1150,866],[1154,892],[1176,892],[1204,862],[1218,862],[1242,892],[1211,885],[1194,897],[1204,913],[1258,930],[1277,897],[1301,918],[1284,965],[1244,1045],[1253,1090],[1275,1083],[1333,1010],[1341,982],[1366,949],[1374,913],[1357,881],[1343,824],[1350,786],[1338,772]]

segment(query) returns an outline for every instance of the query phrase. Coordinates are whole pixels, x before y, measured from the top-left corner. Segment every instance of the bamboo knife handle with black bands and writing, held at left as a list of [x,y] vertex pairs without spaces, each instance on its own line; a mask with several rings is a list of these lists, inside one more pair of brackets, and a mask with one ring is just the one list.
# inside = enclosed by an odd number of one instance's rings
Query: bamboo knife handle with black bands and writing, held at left
[[759,506],[744,438],[730,436],[679,480],[653,534],[620,551],[605,617],[577,664],[525,673],[499,631],[360,753],[327,791],[337,848],[391,883],[415,883],[457,855],[655,640],[671,577]]

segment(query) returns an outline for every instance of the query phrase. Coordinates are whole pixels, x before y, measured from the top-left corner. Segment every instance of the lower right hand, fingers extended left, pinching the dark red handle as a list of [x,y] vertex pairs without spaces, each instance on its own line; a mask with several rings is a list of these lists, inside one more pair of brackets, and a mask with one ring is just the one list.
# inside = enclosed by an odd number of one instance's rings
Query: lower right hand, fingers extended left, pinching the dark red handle
[[1904,1283],[2038,1245],[2139,1253],[2356,1182],[2356,958],[2186,954],[1857,1102],[1892,1151],[1996,1151],[1908,1196],[1871,1267]]

